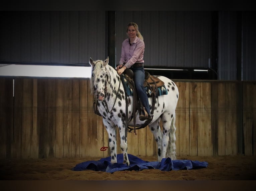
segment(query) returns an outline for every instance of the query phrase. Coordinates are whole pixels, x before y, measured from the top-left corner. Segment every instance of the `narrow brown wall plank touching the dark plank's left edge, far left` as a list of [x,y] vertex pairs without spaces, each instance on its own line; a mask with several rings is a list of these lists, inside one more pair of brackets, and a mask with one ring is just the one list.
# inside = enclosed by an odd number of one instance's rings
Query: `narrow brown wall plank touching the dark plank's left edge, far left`
[[37,79],[33,79],[33,114],[31,127],[30,157],[38,158],[39,132],[37,128]]

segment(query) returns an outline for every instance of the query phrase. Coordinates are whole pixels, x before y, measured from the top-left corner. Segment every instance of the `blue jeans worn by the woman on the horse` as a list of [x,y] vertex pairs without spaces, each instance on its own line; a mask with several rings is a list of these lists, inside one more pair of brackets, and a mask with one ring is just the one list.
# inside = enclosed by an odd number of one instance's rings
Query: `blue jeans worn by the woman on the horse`
[[135,83],[137,94],[139,95],[139,98],[140,98],[143,106],[145,107],[147,113],[150,114],[148,96],[147,96],[147,92],[143,86],[144,80],[145,80],[144,68],[143,68],[143,66],[139,66],[139,67],[132,66],[130,69],[133,71],[133,80]]

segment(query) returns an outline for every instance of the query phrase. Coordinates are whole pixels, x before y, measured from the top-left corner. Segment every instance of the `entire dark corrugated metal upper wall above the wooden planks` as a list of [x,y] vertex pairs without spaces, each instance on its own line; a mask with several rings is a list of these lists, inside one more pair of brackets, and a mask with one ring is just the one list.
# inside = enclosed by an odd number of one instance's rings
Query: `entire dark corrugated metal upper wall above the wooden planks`
[[[1,11],[1,66],[9,62],[88,64],[90,57],[105,59],[109,22],[116,22],[116,46],[110,49],[116,49],[118,64],[127,24],[133,21],[144,37],[145,66],[208,68],[217,52],[219,80],[237,80],[240,66],[242,80],[256,79],[255,11],[116,11],[115,20],[108,20],[106,13]],[[216,31],[218,46],[214,44]]]

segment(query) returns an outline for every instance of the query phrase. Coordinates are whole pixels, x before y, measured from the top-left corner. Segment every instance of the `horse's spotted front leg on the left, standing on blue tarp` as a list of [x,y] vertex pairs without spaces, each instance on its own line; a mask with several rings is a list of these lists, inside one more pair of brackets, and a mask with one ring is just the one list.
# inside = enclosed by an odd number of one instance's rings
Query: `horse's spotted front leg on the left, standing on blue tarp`
[[105,125],[108,132],[109,149],[111,155],[111,164],[117,163],[116,158],[116,127],[112,127],[109,124]]

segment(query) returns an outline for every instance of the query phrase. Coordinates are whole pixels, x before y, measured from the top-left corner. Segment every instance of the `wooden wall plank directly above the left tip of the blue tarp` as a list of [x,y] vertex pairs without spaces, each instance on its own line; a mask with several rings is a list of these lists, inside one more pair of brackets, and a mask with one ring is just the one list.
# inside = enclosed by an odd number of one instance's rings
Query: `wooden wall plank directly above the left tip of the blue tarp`
[[80,153],[79,80],[72,80],[72,157]]

